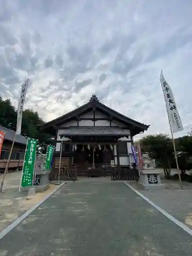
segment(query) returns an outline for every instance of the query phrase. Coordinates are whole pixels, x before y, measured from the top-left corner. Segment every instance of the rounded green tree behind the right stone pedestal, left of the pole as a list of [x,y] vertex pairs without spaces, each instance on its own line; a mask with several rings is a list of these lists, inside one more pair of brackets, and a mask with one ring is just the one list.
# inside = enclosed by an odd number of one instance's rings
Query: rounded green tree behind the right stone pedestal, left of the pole
[[173,153],[173,144],[167,135],[148,135],[140,140],[142,152],[161,163],[166,178],[170,177],[170,168]]

